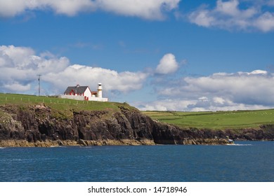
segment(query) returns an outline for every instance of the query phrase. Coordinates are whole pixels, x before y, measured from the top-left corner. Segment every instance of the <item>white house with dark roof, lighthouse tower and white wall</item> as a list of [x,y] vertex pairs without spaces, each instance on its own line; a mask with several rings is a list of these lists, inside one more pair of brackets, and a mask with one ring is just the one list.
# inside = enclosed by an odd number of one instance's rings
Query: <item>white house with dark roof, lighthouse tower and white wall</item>
[[60,97],[80,101],[108,102],[107,98],[103,98],[102,83],[98,83],[97,91],[91,91],[89,86],[69,86]]

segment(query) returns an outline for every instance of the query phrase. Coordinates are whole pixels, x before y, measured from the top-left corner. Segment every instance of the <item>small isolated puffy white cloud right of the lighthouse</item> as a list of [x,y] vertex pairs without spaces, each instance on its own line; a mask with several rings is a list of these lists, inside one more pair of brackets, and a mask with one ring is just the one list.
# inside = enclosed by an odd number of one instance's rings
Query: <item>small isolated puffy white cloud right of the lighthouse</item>
[[155,72],[159,74],[174,73],[179,68],[178,62],[173,54],[168,53],[162,57]]

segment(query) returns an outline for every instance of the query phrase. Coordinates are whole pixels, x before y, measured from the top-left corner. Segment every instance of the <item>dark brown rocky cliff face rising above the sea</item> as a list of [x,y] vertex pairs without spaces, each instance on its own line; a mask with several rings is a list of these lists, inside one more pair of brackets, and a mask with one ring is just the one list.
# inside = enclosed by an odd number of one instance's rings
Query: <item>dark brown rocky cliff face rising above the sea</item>
[[0,106],[0,146],[228,144],[228,139],[274,138],[274,126],[260,130],[181,130],[156,122],[137,110],[71,111],[53,116],[44,104]]

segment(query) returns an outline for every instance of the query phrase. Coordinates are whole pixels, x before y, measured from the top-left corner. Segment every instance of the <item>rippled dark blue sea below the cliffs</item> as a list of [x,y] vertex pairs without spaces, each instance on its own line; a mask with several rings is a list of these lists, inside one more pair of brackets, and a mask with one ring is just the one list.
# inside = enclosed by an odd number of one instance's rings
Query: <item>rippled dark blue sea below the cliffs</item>
[[274,181],[274,142],[0,148],[0,181]]

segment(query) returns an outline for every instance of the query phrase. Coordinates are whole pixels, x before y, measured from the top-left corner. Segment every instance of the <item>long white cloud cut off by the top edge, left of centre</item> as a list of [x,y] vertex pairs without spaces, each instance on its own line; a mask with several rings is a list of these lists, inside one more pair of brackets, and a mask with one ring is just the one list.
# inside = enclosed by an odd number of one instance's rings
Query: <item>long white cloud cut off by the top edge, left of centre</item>
[[51,9],[73,16],[83,11],[104,10],[119,15],[162,20],[164,12],[177,8],[180,0],[0,0],[0,16],[13,17],[27,10]]

